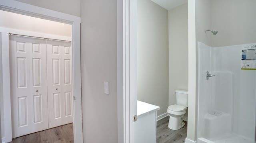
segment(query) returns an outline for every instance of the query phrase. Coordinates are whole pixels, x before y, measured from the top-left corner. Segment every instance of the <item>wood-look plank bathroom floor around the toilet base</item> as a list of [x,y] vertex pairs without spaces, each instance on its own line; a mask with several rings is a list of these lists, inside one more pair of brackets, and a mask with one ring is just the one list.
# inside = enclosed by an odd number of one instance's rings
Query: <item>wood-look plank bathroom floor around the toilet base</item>
[[169,116],[156,123],[156,143],[184,143],[187,137],[187,122],[179,130],[168,128]]

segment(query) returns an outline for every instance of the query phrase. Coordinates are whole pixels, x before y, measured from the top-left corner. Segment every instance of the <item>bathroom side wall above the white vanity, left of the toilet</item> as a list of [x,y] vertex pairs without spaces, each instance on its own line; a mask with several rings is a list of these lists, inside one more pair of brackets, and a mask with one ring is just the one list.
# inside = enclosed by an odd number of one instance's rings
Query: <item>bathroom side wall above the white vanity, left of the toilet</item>
[[168,11],[151,0],[137,0],[138,100],[168,108]]

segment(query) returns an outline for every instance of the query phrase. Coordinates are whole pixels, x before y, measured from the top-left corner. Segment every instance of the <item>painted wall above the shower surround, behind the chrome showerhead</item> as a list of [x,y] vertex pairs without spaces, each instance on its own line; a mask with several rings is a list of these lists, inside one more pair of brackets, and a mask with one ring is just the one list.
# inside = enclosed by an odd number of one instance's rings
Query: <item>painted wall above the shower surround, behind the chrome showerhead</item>
[[254,43],[255,5],[255,0],[196,0],[196,41],[212,47]]

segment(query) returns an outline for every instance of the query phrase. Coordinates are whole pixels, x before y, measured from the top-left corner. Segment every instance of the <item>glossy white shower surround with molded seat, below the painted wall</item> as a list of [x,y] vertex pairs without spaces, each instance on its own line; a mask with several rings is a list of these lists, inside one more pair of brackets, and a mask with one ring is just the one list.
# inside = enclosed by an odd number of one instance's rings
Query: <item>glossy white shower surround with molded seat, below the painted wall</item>
[[254,143],[256,71],[241,69],[244,48],[256,43],[198,42],[198,143]]

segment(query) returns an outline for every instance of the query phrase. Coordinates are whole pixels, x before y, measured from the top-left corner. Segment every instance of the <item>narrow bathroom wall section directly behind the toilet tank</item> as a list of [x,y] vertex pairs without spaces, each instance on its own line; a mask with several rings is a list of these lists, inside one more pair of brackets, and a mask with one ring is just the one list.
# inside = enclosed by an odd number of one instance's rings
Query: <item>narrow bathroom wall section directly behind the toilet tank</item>
[[188,4],[168,11],[169,105],[176,104],[175,90],[188,90]]

